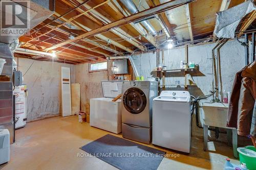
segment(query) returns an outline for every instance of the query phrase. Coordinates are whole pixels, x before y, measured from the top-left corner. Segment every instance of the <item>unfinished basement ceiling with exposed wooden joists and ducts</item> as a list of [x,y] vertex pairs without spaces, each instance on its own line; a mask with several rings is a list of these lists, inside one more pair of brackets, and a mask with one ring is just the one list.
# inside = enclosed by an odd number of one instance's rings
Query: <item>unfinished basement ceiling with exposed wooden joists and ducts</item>
[[[193,44],[213,36],[216,12],[244,0],[184,2],[189,1],[56,0],[55,13],[33,28],[30,36],[20,37],[20,47],[54,51],[54,61],[78,64],[146,52],[162,47],[167,39],[175,45]],[[243,31],[254,20],[254,14],[250,15],[240,26]],[[53,60],[50,56],[15,56]]]

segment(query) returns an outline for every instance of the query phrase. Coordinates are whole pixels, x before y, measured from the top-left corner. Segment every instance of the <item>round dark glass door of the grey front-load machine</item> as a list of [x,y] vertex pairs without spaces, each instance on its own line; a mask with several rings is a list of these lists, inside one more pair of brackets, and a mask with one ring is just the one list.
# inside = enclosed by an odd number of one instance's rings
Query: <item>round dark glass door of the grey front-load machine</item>
[[141,89],[130,88],[123,94],[124,108],[133,114],[139,114],[146,107],[146,96]]

